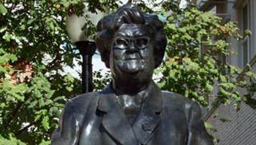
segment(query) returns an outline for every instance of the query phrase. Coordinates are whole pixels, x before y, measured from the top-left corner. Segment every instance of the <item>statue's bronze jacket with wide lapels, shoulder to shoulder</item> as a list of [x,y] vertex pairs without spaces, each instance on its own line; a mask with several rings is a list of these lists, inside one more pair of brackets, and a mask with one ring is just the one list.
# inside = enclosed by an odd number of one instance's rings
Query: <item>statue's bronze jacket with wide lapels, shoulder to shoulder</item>
[[197,103],[149,89],[132,125],[113,90],[86,93],[65,106],[52,145],[211,145]]

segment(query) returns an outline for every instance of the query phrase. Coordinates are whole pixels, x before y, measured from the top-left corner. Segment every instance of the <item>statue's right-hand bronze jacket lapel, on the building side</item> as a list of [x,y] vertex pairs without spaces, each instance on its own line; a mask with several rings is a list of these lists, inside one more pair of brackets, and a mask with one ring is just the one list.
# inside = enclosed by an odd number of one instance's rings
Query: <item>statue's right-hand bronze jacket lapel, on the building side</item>
[[148,87],[148,96],[132,129],[141,144],[151,140],[154,130],[161,121],[162,92],[154,82]]

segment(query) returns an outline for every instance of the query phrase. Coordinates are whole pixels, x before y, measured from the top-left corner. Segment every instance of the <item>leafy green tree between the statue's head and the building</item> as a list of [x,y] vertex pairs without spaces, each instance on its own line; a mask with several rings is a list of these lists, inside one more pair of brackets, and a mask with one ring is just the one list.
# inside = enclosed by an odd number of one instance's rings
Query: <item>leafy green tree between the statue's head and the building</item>
[[[173,3],[163,3],[163,12],[171,5]],[[162,74],[159,86],[192,98],[203,106],[208,106],[208,98],[225,104],[234,100],[236,109],[241,102],[255,106],[252,88],[256,74],[250,71],[249,64],[241,69],[219,59],[235,53],[226,39],[241,39],[236,23],[223,24],[220,17],[200,12],[193,3],[184,9],[173,5],[171,10],[173,13],[165,21],[168,44],[166,60],[159,68]],[[214,87],[219,93],[213,93]],[[241,87],[246,87],[248,94],[241,96],[238,92]]]

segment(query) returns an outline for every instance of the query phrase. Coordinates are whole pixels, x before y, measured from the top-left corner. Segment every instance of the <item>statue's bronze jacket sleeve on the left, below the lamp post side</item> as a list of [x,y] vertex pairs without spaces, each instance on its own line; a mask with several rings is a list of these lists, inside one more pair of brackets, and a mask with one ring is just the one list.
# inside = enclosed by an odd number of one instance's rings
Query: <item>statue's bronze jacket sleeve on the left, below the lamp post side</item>
[[59,128],[51,137],[51,145],[77,145],[78,127],[75,108],[72,101],[69,101],[59,119]]

